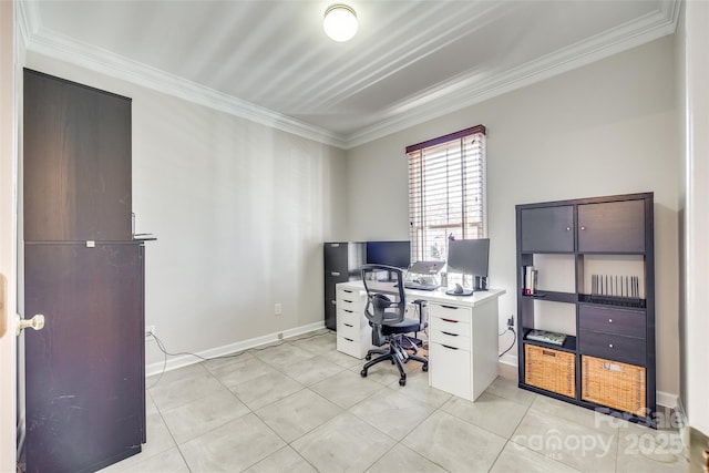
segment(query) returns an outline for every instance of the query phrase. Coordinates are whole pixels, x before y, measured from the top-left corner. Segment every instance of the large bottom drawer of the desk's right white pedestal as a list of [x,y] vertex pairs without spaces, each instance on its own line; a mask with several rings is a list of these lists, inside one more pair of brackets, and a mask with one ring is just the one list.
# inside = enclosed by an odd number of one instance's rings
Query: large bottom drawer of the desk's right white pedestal
[[431,385],[472,400],[472,364],[470,351],[430,342]]

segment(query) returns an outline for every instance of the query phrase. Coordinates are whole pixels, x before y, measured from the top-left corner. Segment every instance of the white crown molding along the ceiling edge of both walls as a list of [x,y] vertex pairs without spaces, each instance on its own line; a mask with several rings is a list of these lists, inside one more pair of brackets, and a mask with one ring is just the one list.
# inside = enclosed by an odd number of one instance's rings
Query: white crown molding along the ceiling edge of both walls
[[497,95],[562,74],[594,61],[672,34],[681,0],[662,1],[659,9],[594,38],[571,44],[517,68],[480,81],[477,72],[461,75],[374,116],[376,122],[351,134],[338,134],[260,107],[91,44],[42,28],[38,0],[18,1],[19,27],[27,49],[94,72],[119,78],[161,93],[208,106],[266,126],[343,150],[420,125]]

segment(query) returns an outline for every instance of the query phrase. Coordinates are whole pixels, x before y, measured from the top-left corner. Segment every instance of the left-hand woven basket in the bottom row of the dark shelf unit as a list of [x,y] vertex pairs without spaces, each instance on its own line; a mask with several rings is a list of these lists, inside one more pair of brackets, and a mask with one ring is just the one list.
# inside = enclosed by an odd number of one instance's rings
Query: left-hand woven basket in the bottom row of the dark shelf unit
[[524,382],[575,398],[575,358],[574,353],[527,343],[524,346]]

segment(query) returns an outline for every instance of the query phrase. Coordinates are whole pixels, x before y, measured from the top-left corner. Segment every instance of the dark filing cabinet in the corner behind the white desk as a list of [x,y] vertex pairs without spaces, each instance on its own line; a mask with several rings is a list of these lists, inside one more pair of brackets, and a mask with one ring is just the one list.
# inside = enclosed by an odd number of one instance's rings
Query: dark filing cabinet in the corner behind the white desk
[[336,285],[359,279],[360,268],[367,263],[367,244],[352,241],[326,243],[325,260],[325,327],[337,329]]

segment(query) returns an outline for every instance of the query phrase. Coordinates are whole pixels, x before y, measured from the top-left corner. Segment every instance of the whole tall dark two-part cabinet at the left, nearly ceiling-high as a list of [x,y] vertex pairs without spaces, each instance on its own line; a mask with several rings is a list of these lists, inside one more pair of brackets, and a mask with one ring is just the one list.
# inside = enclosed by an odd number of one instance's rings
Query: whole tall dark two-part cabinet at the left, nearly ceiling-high
[[25,70],[23,133],[27,471],[95,471],[145,442],[131,100]]

